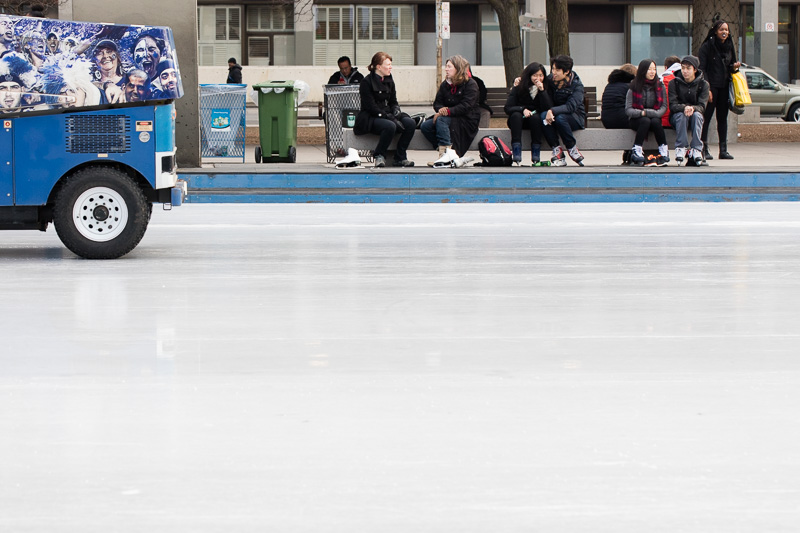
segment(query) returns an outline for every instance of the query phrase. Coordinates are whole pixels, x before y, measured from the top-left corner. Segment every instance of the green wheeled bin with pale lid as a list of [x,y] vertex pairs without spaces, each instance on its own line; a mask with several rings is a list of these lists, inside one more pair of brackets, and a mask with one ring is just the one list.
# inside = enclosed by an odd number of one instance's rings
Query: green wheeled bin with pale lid
[[253,85],[258,93],[256,163],[297,160],[297,89],[293,80]]

